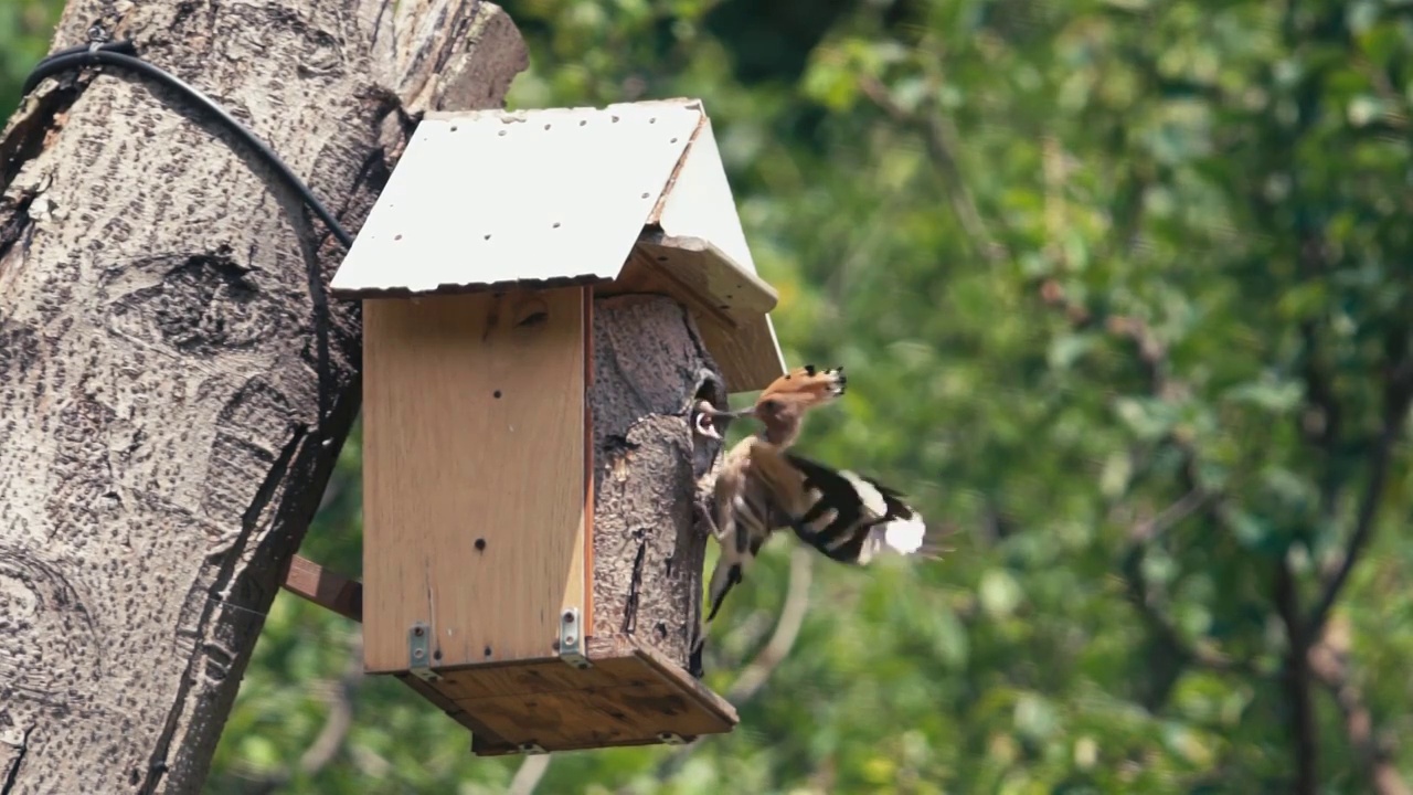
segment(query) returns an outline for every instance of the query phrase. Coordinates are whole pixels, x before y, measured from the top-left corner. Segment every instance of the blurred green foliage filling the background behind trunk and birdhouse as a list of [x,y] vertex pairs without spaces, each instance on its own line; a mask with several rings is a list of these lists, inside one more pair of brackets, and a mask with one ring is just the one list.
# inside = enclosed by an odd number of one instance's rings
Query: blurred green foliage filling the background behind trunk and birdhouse
[[[54,8],[0,7],[0,100]],[[1301,734],[1321,791],[1368,791],[1348,704],[1286,676],[1364,523],[1328,627],[1413,772],[1400,4],[507,8],[513,106],[705,99],[787,359],[852,375],[804,447],[957,530],[937,564],[818,562],[736,733],[555,757],[541,792],[1283,792]],[[307,542],[348,571],[357,480],[353,439]],[[788,546],[723,611],[714,687],[766,642]],[[300,770],[356,635],[277,598],[209,792]],[[396,683],[352,703],[288,791],[500,792],[519,764]]]

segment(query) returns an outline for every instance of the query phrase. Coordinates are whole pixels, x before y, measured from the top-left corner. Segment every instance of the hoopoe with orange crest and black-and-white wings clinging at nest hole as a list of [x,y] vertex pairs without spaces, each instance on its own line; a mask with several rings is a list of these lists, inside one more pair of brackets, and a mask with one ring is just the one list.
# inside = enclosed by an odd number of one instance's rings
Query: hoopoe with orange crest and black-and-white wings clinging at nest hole
[[842,396],[846,383],[842,366],[821,371],[805,365],[777,378],[747,409],[721,412],[705,400],[695,406],[695,430],[712,439],[721,439],[718,420],[749,416],[762,427],[726,453],[716,475],[706,523],[721,556],[708,586],[711,607],[692,645],[692,675],[702,673],[706,625],[777,529],[793,529],[800,540],[841,563],[865,564],[883,550],[930,552],[924,549],[923,518],[901,494],[788,451],[804,416]]

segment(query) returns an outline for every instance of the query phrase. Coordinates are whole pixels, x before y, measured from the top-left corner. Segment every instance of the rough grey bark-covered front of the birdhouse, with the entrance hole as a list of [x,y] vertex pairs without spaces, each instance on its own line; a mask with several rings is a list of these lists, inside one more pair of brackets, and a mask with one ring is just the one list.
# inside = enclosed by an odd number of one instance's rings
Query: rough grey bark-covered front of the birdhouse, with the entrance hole
[[721,450],[688,422],[702,398],[726,407],[721,373],[681,304],[595,301],[593,632],[634,635],[684,668],[709,533],[692,506]]

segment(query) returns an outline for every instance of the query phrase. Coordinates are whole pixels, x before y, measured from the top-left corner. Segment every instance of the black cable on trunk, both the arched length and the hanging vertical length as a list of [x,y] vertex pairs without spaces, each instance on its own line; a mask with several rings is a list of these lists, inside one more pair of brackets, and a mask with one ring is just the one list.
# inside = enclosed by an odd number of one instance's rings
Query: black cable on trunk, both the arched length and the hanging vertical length
[[[345,249],[352,248],[353,236],[349,235],[348,231],[345,231],[343,226],[341,226],[339,222],[333,219],[333,214],[329,212],[326,207],[324,207],[324,202],[321,202],[318,197],[314,195],[314,191],[311,191],[309,187],[304,184],[304,180],[300,180],[300,177],[297,177],[294,171],[291,171],[290,167],[285,166],[283,160],[280,160],[280,156],[277,156],[268,146],[266,146],[266,143],[260,140],[253,132],[250,132],[244,124],[236,120],[235,116],[226,113],[226,110],[222,106],[216,105],[215,100],[202,93],[201,89],[182,81],[177,75],[172,75],[171,72],[160,66],[154,66],[153,64],[148,64],[147,61],[138,58],[137,47],[133,45],[131,41],[112,41],[105,44],[92,42],[81,47],[69,47],[65,50],[59,50],[58,52],[54,52],[52,55],[40,61],[34,66],[34,71],[30,72],[30,76],[25,78],[24,81],[24,88],[21,91],[21,95],[27,95],[31,91],[34,91],[34,88],[38,86],[40,82],[44,81],[45,78],[54,76],[68,69],[78,69],[83,66],[122,66],[124,69],[137,72],[146,78],[151,78],[165,85],[167,88],[174,89],[177,93],[184,95],[194,103],[196,103],[196,106],[199,106],[203,112],[211,115],[211,117],[213,117],[227,130],[230,130],[232,134],[235,134],[237,139],[240,139],[242,143],[249,146],[250,150],[254,151],[260,160],[263,160],[276,174],[278,174],[280,178],[284,180],[285,184],[288,184],[288,187],[294,190],[300,195],[300,198],[304,199],[305,207],[312,209],[314,214],[319,216],[319,221],[322,221],[324,225],[329,229],[329,232],[332,232],[333,236],[338,238],[341,243],[343,243]],[[314,324],[315,324],[317,347],[318,347],[317,352],[318,379],[319,379],[318,436],[322,437],[324,420],[329,416],[329,412],[332,409],[332,396],[329,395],[331,390],[328,386],[328,379],[332,375],[329,372],[329,304],[328,298],[324,294],[324,279],[322,274],[319,273],[318,259],[317,257],[308,257],[308,259],[309,259],[309,266],[308,266],[309,300],[314,304]],[[321,441],[324,440],[321,439]]]

